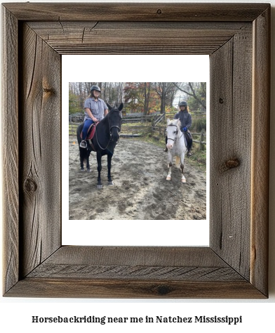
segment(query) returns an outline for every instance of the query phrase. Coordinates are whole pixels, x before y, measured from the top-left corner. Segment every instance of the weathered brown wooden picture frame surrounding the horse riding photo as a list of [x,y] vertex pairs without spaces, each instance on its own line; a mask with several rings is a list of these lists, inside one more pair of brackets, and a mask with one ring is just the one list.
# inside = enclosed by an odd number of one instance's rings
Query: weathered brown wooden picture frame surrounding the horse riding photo
[[[267,298],[270,4],[2,15],[4,296]],[[209,247],[62,246],[62,54],[210,55]]]

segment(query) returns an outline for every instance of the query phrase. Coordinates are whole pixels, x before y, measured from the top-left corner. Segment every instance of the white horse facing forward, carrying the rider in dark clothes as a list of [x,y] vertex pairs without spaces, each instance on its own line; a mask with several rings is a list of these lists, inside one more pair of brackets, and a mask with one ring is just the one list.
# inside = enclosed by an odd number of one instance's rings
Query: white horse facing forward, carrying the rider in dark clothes
[[166,128],[166,136],[167,136],[167,144],[168,148],[168,176],[166,177],[167,181],[171,180],[171,171],[173,165],[173,157],[176,157],[175,164],[177,167],[180,166],[182,170],[182,183],[186,183],[185,176],[183,174],[184,162],[185,162],[185,154],[187,152],[187,144],[185,141],[185,136],[180,131],[181,124],[180,119],[167,119],[167,128]]

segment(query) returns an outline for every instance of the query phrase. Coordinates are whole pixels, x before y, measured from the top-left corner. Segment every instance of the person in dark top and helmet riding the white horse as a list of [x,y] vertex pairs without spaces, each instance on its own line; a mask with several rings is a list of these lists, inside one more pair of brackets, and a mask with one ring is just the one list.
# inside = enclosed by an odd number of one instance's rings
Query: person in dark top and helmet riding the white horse
[[[185,134],[185,138],[187,139],[187,156],[192,156],[192,153],[190,152],[192,148],[192,134],[189,131],[189,127],[192,124],[192,117],[189,113],[189,107],[187,102],[185,100],[182,100],[179,104],[180,111],[175,114],[174,119],[180,119],[180,123],[182,124],[181,131]],[[167,138],[166,138],[166,144],[167,144]],[[166,147],[164,149],[165,152],[168,151],[168,148]]]

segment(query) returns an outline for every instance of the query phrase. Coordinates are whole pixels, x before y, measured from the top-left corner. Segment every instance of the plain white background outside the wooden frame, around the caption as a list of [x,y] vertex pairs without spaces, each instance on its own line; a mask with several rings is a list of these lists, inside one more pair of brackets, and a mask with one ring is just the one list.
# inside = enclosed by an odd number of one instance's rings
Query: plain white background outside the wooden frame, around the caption
[[[20,1],[9,1],[20,2]],[[33,1],[39,2],[39,1]],[[43,1],[41,1],[43,2]],[[50,2],[50,1],[49,1]],[[60,1],[62,2],[62,1]],[[67,1],[69,2],[69,1]],[[76,0],[72,1],[76,2]],[[96,1],[95,1],[96,2]],[[109,1],[110,2],[110,1]],[[122,1],[121,1],[122,2]],[[129,1],[128,1],[129,2]],[[140,1],[142,2],[142,1]],[[152,1],[154,2],[154,1]],[[161,2],[161,1],[158,1]],[[165,1],[169,2],[169,1]],[[173,2],[191,2],[173,1]],[[222,2],[222,1],[203,1],[199,2]],[[227,2],[253,2],[253,1],[227,1]],[[267,1],[257,2],[265,3]],[[204,332],[274,332],[274,313],[275,313],[275,94],[274,94],[274,19],[275,19],[275,0],[269,1],[272,5],[271,17],[271,179],[270,179],[270,242],[269,242],[269,299],[268,300],[134,300],[134,299],[9,299],[1,298],[0,303],[0,325],[2,332],[9,329],[11,332],[185,332],[188,329],[203,329]],[[1,147],[1,145],[0,145]],[[116,324],[116,325],[88,325],[88,324],[32,324],[32,315],[50,317],[56,315],[107,315],[117,317],[144,317],[149,315],[163,316],[194,316],[194,315],[230,315],[243,316],[243,324],[228,326],[224,324]],[[81,326],[80,326],[81,325]],[[199,325],[199,326],[198,326]],[[6,327],[6,328],[5,328]],[[8,327],[8,328],[7,328]],[[4,330],[3,330],[4,329]],[[188,331],[187,331],[188,332]]]

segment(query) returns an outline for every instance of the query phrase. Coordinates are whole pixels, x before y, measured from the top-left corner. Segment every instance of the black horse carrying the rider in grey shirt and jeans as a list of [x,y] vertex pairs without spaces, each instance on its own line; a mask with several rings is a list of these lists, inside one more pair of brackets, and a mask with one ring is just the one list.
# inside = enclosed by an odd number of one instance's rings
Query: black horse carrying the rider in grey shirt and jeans
[[[116,143],[119,141],[119,131],[121,130],[121,110],[123,103],[119,107],[111,107],[108,103],[109,113],[104,117],[95,128],[95,135],[91,139],[91,145],[89,140],[87,142],[87,148],[79,147],[80,154],[80,166],[81,170],[84,171],[84,161],[86,160],[87,171],[90,171],[89,157],[90,152],[95,151],[98,161],[98,188],[102,188],[100,172],[102,169],[101,158],[107,155],[107,166],[108,166],[108,184],[114,185],[111,176],[111,161],[114,154],[114,148]],[[81,143],[81,132],[84,123],[80,124],[77,129],[77,141]]]

